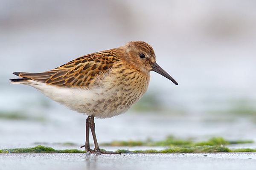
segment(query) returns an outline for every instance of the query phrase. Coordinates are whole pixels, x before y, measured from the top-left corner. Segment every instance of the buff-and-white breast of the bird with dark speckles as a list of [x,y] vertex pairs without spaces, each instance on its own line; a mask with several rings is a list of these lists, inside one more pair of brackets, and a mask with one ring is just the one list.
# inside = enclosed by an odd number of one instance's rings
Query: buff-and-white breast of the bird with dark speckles
[[103,119],[125,113],[145,94],[149,78],[136,69],[113,71],[99,87],[87,91],[75,110]]

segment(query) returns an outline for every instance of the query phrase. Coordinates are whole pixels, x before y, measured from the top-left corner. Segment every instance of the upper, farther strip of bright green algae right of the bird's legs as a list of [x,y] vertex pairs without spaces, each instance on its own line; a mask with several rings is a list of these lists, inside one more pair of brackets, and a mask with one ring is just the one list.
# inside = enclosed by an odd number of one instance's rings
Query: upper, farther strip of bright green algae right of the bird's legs
[[215,145],[227,145],[227,144],[244,144],[253,143],[251,140],[237,140],[227,141],[221,137],[213,137],[205,142],[192,142],[191,140],[175,139],[173,136],[167,136],[163,141],[153,142],[147,141],[113,141],[110,143],[102,143],[103,146],[168,146],[168,147],[196,147],[196,146],[215,146]]

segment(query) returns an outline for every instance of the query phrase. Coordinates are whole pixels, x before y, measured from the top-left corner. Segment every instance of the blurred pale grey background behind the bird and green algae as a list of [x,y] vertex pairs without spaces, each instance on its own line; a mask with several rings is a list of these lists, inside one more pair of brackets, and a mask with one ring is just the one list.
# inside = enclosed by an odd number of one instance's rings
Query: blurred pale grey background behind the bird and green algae
[[179,83],[151,73],[128,113],[96,120],[99,142],[221,136],[256,141],[256,1],[1,0],[0,148],[84,143],[86,116],[12,72],[42,72],[131,40]]

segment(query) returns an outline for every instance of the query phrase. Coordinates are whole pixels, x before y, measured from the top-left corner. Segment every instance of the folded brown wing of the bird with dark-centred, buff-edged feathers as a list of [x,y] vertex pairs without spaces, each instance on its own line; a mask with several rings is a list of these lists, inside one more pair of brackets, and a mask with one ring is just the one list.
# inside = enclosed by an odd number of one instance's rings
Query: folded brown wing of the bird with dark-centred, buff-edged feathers
[[58,87],[90,87],[111,71],[114,63],[119,61],[115,56],[112,49],[79,57],[50,71],[13,74],[23,80],[31,79]]

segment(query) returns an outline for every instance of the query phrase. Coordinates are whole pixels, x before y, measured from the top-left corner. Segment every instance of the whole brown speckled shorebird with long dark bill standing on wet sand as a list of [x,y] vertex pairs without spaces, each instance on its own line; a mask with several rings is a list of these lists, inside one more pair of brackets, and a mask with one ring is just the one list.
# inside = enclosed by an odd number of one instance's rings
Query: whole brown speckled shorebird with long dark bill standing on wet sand
[[[116,153],[100,150],[94,117],[110,118],[128,111],[147,91],[150,71],[178,85],[157,64],[153,48],[143,41],[130,41],[118,48],[87,54],[42,73],[15,72],[21,78],[10,80],[32,86],[73,111],[88,115],[86,140],[81,146],[87,152]],[[94,149],[90,148],[90,130]]]

